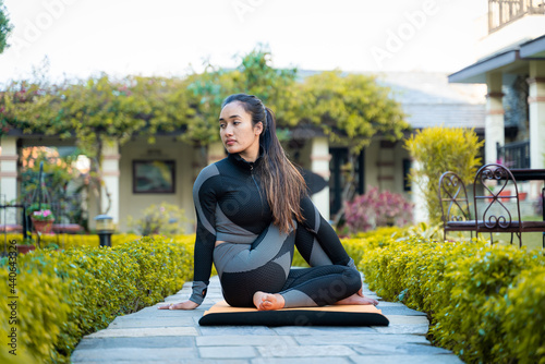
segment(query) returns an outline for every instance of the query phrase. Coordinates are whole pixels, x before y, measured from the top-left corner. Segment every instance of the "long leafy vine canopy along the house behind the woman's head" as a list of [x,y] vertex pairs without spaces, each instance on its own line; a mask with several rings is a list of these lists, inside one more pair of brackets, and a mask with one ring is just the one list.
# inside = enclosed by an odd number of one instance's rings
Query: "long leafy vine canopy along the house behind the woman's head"
[[[349,146],[350,160],[380,135],[399,139],[409,125],[389,89],[374,77],[339,71],[299,81],[296,69],[275,69],[271,53],[261,46],[241,57],[234,70],[209,64],[202,74],[185,78],[106,74],[76,83],[15,82],[0,93],[0,135],[11,129],[73,137],[95,159],[99,175],[105,143],[119,145],[133,135],[150,142],[159,132],[178,131],[180,138],[206,146],[219,141],[218,114],[226,96],[258,96],[281,128],[310,124],[320,128],[332,142]],[[354,163],[351,162],[350,177]],[[349,183],[344,201],[353,195]]]

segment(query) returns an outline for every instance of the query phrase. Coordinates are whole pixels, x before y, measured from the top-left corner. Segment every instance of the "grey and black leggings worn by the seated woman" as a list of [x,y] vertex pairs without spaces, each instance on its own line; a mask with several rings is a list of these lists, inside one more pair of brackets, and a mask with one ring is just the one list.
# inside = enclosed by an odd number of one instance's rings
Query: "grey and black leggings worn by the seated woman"
[[[291,268],[295,245],[317,266]],[[313,252],[312,259],[305,252]],[[334,304],[361,288],[360,272],[332,264],[313,233],[301,225],[281,233],[271,223],[252,244],[221,243],[214,250],[214,264],[223,298],[235,307],[253,307],[256,291],[280,293],[284,307],[308,307]]]

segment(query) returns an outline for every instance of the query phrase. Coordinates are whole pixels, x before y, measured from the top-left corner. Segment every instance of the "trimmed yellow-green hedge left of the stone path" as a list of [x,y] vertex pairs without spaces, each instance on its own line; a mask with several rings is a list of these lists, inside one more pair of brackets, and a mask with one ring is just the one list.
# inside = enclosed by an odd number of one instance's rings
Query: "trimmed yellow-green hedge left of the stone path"
[[112,248],[37,250],[13,259],[3,258],[0,269],[0,312],[10,317],[15,289],[16,324],[3,319],[0,336],[16,329],[16,353],[5,348],[0,362],[69,362],[80,339],[108,326],[117,316],[160,302],[179,291],[193,270],[194,236],[167,240],[142,238]]

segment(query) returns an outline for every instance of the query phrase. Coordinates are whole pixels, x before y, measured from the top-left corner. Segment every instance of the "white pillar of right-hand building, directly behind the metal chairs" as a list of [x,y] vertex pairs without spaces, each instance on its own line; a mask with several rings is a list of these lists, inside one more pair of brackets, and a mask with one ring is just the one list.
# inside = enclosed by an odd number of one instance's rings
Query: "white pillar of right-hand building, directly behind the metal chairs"
[[497,144],[505,145],[504,105],[501,98],[501,73],[487,73],[486,119],[485,119],[485,162],[498,161]]

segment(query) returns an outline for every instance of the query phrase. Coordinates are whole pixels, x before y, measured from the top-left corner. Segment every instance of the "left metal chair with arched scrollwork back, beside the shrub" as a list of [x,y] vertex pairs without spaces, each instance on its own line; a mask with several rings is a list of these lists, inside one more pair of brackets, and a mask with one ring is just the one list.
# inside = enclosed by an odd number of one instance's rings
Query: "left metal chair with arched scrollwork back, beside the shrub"
[[468,192],[462,179],[455,172],[445,172],[439,178],[439,203],[443,240],[447,240],[447,231],[470,231],[473,238],[475,221],[471,220]]

